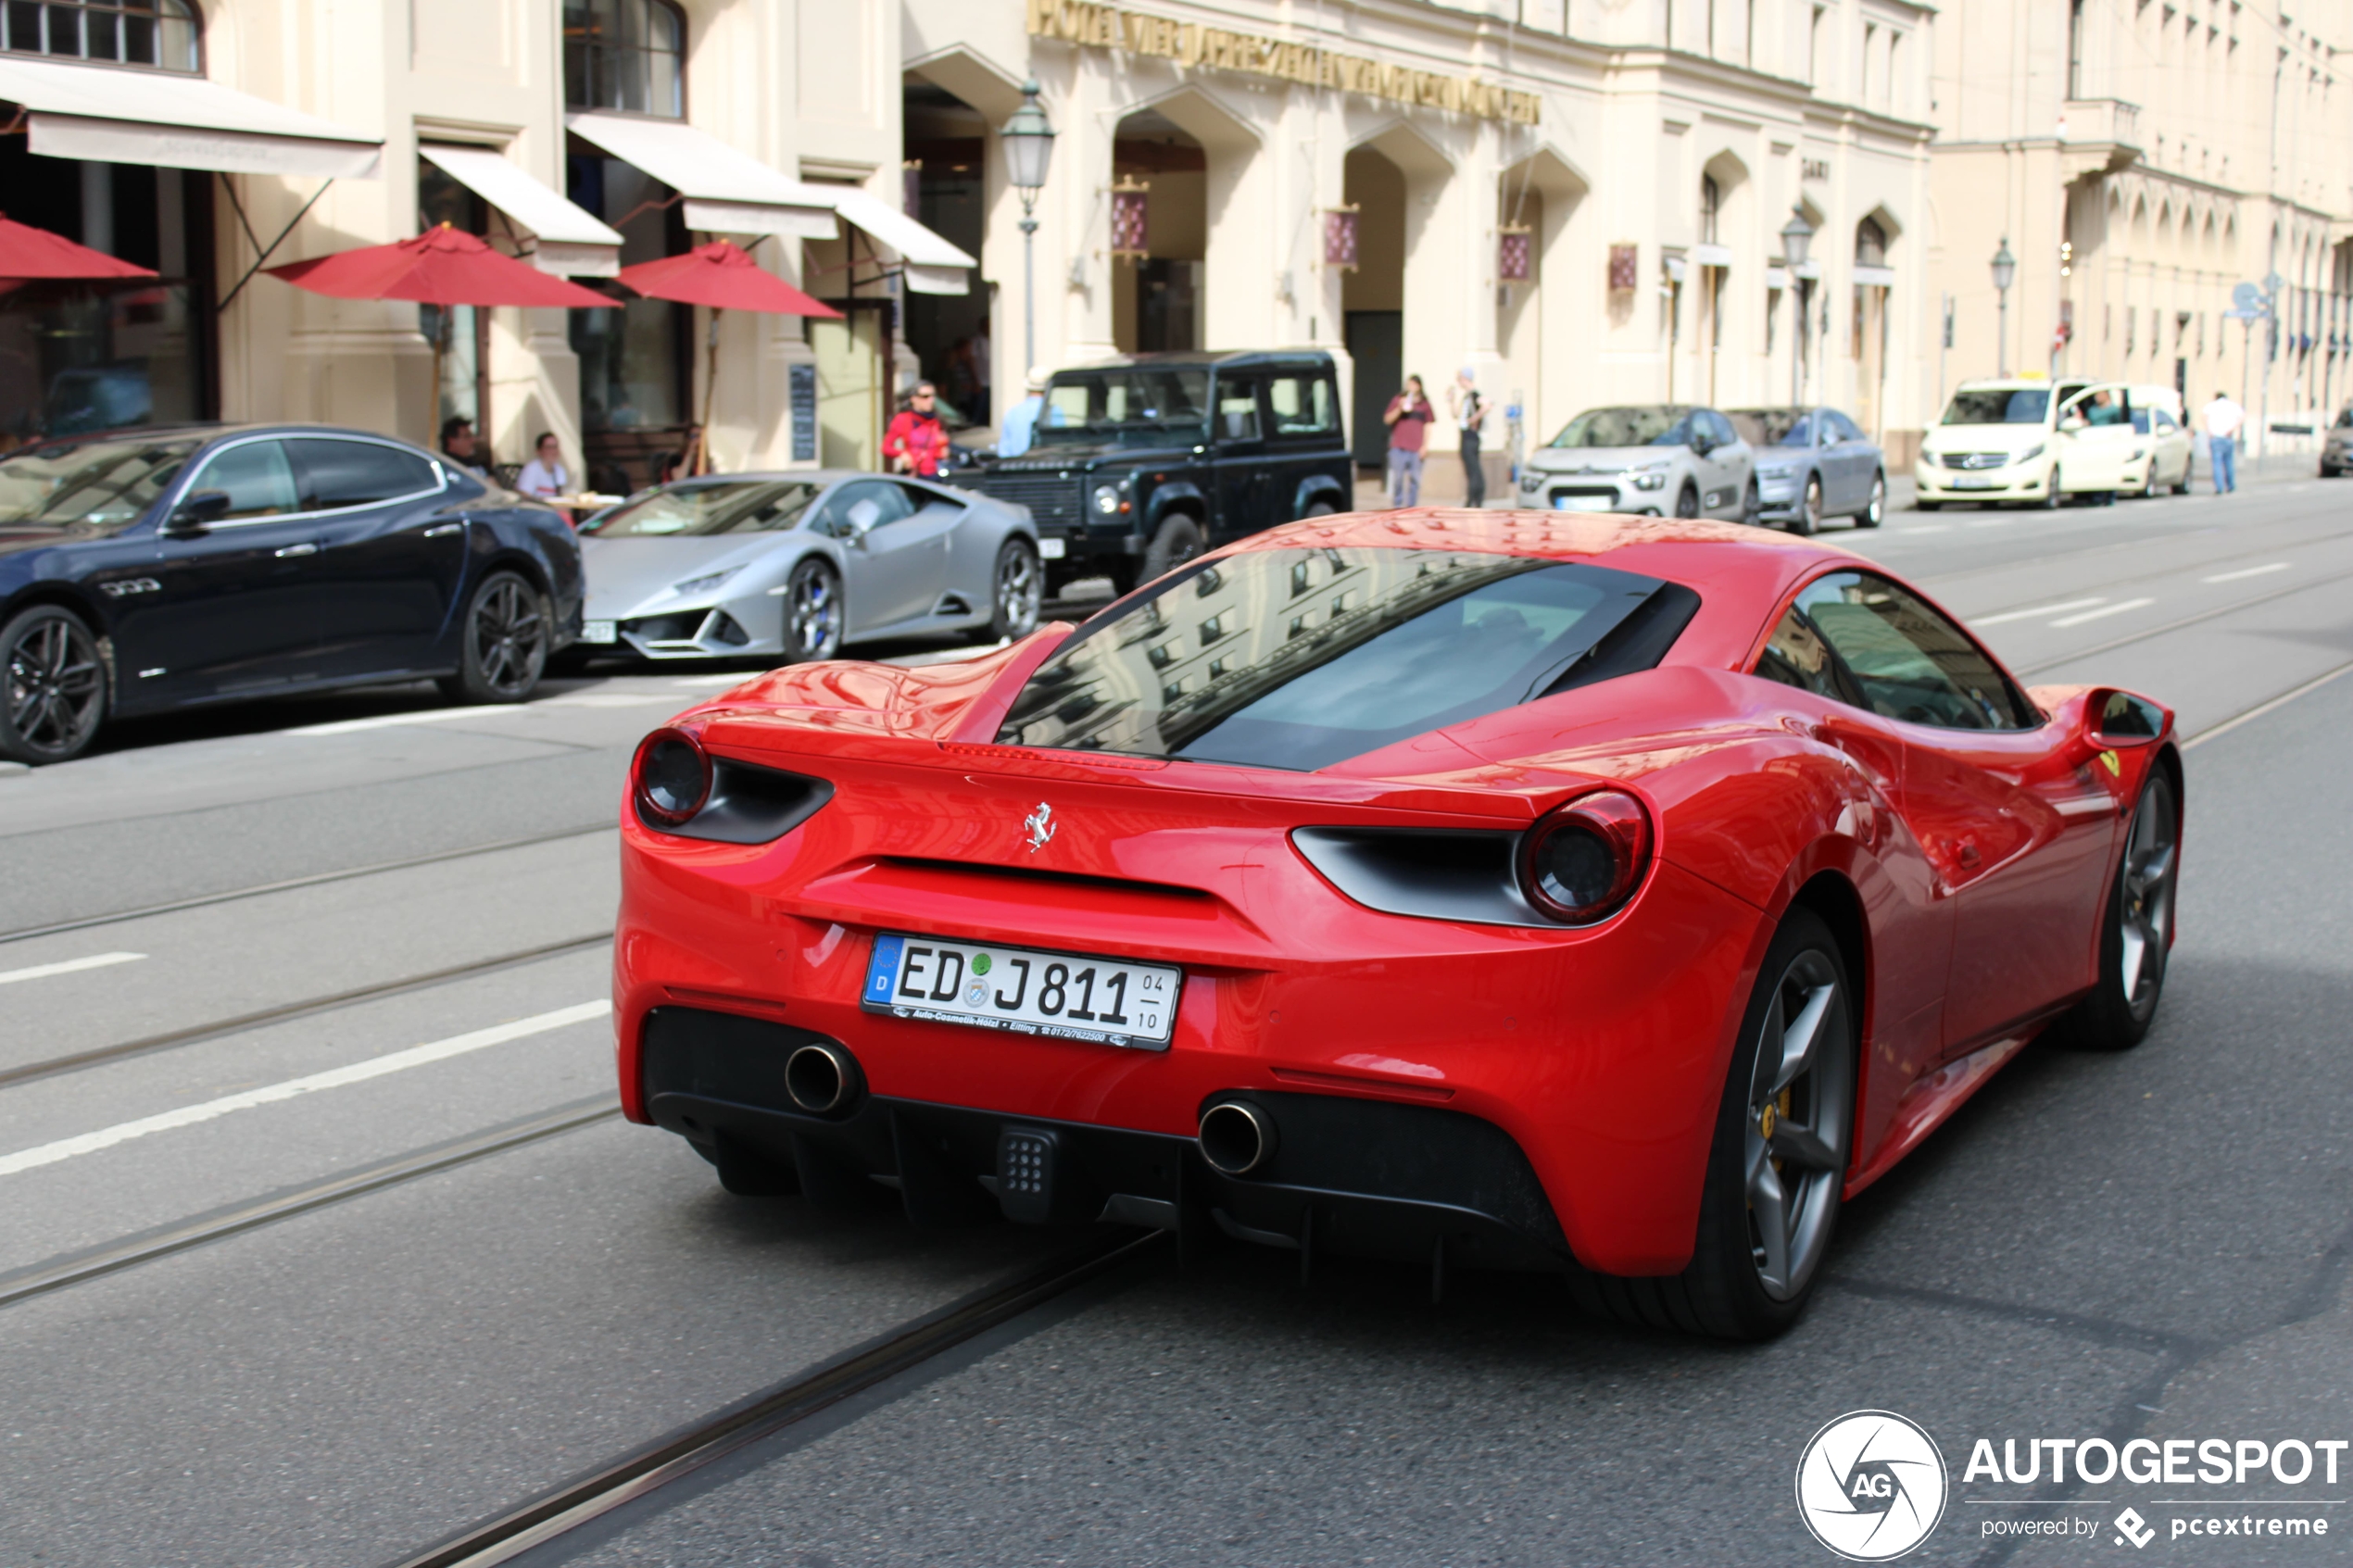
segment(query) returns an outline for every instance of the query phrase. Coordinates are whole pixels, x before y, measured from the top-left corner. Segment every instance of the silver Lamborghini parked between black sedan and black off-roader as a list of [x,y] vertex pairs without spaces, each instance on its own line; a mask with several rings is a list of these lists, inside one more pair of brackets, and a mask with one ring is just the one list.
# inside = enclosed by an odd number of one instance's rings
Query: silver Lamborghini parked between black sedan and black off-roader
[[680,480],[581,524],[581,651],[833,658],[842,644],[1026,637],[1045,574],[1019,505],[873,473]]

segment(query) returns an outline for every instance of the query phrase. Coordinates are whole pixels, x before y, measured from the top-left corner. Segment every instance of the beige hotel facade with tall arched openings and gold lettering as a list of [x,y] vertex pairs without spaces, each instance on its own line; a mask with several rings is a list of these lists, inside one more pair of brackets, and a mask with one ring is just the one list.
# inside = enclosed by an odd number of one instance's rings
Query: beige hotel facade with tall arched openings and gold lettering
[[[1889,0],[908,0],[908,146],[979,176],[1007,371],[1031,334],[1047,367],[1325,348],[1367,463],[1400,376],[1435,400],[1461,367],[1527,444],[1605,402],[1819,400],[1901,456],[1937,393],[1913,369],[1929,21]],[[1024,80],[1059,129],[1033,322],[995,136]]]

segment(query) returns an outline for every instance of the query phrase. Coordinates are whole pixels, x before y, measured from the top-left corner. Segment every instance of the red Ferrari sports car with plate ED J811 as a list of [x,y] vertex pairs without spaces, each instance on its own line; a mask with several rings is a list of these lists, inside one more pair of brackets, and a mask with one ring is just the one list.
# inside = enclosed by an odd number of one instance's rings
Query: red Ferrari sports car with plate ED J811
[[734,1192],[1758,1338],[2028,1037],[2148,1030],[2181,762],[1812,541],[1419,510],[755,677],[621,839],[621,1100]]

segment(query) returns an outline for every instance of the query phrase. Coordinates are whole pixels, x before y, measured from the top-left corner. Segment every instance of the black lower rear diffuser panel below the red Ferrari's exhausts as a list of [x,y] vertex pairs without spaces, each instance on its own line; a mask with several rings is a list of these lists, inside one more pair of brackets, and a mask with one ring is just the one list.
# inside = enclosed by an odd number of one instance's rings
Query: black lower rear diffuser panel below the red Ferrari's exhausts
[[[1278,1150],[1264,1173],[1228,1178],[1191,1138],[1167,1133],[887,1095],[866,1095],[840,1117],[809,1117],[786,1095],[781,1065],[819,1039],[784,1023],[656,1009],[640,1058],[647,1112],[729,1180],[788,1173],[816,1206],[896,1206],[918,1225],[1002,1213],[1400,1262],[1569,1262],[1527,1154],[1478,1117],[1257,1093],[1247,1098],[1280,1128]],[[1009,1171],[1016,1159],[1026,1164]]]

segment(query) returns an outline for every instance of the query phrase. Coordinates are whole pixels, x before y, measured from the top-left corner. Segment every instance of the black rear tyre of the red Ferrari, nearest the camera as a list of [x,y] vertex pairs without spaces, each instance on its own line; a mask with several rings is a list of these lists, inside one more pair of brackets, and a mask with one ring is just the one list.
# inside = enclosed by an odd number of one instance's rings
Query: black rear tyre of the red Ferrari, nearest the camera
[[[1821,987],[1828,994],[1814,1013]],[[1838,1229],[1840,1187],[1852,1154],[1852,997],[1831,929],[1812,910],[1793,907],[1765,950],[1755,994],[1741,1013],[1739,1046],[1715,1114],[1692,1262],[1682,1274],[1661,1279],[1572,1276],[1584,1305],[1633,1324],[1722,1340],[1769,1340],[1798,1321]],[[1788,1074],[1779,1051],[1760,1065],[1758,1046],[1767,1032],[1777,1046],[1786,1046],[1807,1018],[1812,1027],[1800,1067]],[[1798,1173],[1793,1204],[1784,1185],[1791,1171]],[[1781,1194],[1779,1220],[1758,1215],[1758,1190]],[[1765,1237],[1772,1232],[1760,1229],[1760,1220],[1779,1222],[1779,1248],[1767,1246]]]

